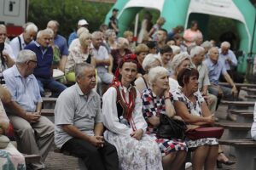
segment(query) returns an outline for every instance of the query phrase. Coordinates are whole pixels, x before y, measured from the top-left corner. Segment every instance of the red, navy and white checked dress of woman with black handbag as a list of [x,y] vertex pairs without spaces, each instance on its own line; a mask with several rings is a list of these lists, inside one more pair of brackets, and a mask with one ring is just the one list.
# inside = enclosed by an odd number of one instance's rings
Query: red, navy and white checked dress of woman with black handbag
[[[166,105],[164,96],[161,98],[156,96],[150,88],[143,91],[143,116],[147,120],[152,116],[160,116],[160,114],[166,114]],[[187,145],[181,139],[159,139],[156,136],[157,128],[154,128],[148,122],[148,134],[155,139],[159,145],[162,156],[166,156],[169,153],[178,150],[188,150]]]

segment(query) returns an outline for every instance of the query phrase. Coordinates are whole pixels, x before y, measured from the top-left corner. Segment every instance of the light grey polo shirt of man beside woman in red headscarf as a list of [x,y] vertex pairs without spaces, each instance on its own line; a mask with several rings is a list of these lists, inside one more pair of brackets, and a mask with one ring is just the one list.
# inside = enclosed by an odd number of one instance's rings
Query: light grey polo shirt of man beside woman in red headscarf
[[76,83],[64,90],[55,105],[55,144],[61,148],[73,137],[61,125],[73,125],[87,135],[94,135],[95,123],[102,122],[101,99],[95,91],[84,95]]

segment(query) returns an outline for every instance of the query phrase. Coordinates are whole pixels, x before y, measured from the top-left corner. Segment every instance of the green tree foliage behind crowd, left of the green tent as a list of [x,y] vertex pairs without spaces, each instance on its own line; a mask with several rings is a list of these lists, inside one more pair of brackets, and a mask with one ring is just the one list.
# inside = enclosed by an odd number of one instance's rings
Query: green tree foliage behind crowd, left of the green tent
[[28,21],[34,22],[39,29],[44,29],[49,20],[57,20],[60,23],[61,35],[68,37],[77,29],[80,19],[87,20],[90,31],[96,31],[112,5],[83,0],[30,0]]

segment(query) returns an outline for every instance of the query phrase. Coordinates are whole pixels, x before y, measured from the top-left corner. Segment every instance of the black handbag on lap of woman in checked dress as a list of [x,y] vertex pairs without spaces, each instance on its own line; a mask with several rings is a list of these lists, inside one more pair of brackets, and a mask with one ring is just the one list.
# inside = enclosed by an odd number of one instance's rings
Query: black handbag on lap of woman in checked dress
[[160,125],[157,127],[156,136],[161,139],[185,139],[186,128],[185,122],[160,114]]

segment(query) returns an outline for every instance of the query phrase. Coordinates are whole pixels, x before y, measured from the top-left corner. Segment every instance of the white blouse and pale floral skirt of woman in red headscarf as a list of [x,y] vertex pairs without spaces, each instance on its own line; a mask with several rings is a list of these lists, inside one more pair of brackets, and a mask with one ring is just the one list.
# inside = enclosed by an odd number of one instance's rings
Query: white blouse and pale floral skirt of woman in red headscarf
[[[122,99],[129,99],[131,88],[119,86],[108,88],[103,95],[103,123],[107,127],[104,133],[104,139],[116,147],[119,155],[119,169],[122,170],[162,170],[161,154],[158,145],[148,134],[144,133],[142,139],[137,140],[131,137],[132,122],[128,122],[123,116],[125,111],[119,105],[119,94],[117,90],[124,91],[125,96]],[[132,120],[137,129],[143,129],[146,132],[147,122],[145,122],[142,113],[142,100],[139,92],[136,90],[135,108],[132,111]]]

